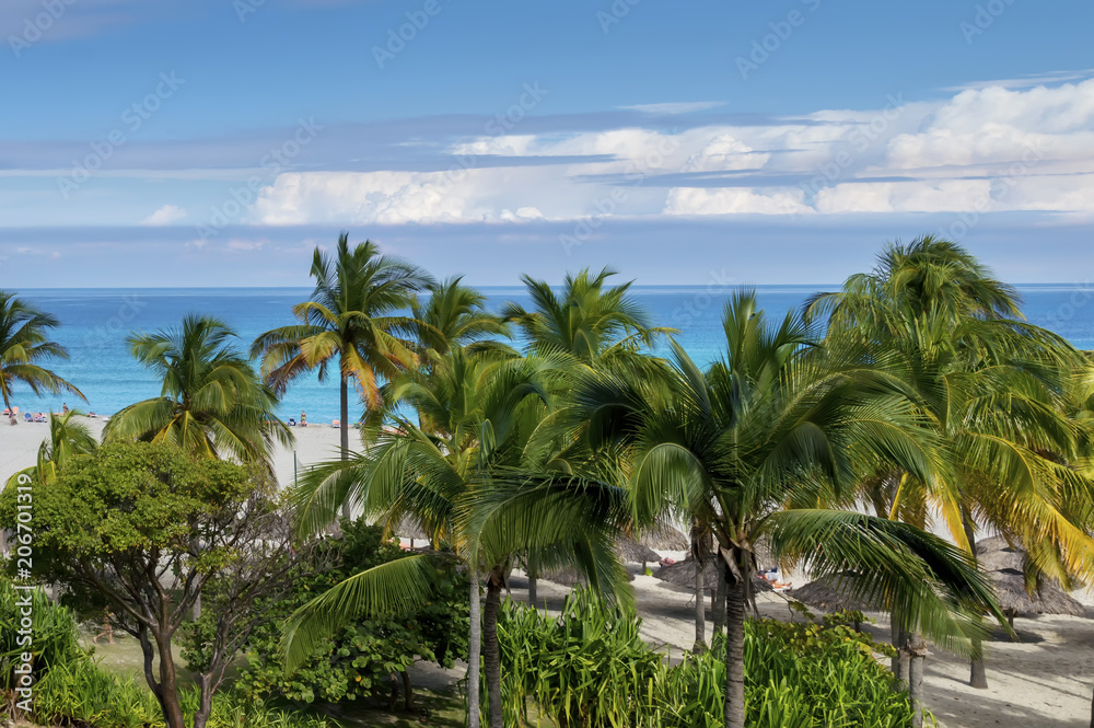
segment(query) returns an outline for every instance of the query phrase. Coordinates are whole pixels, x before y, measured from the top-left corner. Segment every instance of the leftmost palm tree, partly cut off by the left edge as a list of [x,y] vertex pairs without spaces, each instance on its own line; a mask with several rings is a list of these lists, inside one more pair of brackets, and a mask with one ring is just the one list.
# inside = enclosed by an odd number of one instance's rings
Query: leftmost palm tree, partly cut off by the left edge
[[35,395],[59,394],[65,390],[88,401],[74,385],[39,363],[68,359],[65,347],[48,338],[49,331],[58,326],[60,322],[54,316],[14,293],[0,291],[0,396],[5,409],[11,409],[12,388],[16,382],[25,384]]

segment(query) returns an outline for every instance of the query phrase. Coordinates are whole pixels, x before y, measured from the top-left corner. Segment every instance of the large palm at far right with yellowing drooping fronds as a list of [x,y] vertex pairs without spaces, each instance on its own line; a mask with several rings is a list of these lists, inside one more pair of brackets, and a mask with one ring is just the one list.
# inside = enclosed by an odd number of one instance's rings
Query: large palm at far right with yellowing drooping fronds
[[[895,471],[863,482],[877,515],[924,527],[933,510],[975,555],[977,513],[1037,544],[1039,567],[1067,580],[1091,575],[1081,554],[1094,547],[1082,515],[1091,487],[1066,464],[1090,441],[1067,412],[1085,361],[1059,336],[1017,320],[1019,304],[966,251],[923,238],[889,246],[873,274],[816,297],[810,313],[833,313],[829,340],[852,339],[886,359],[944,443],[952,478],[924,483]],[[1069,504],[1075,496],[1082,502]],[[898,616],[894,636],[903,642]],[[899,675],[901,666],[894,669]],[[987,687],[978,642],[969,682]]]

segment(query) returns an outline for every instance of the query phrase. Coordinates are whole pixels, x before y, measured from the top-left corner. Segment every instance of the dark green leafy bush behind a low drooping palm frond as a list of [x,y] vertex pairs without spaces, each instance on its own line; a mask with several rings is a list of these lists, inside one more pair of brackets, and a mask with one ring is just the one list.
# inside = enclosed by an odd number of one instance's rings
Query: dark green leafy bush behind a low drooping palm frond
[[281,623],[353,574],[403,556],[397,542],[385,541],[377,527],[346,521],[342,529],[342,539],[319,550],[322,570],[314,564],[302,569],[312,573],[301,575],[295,590],[274,606],[271,621],[252,636],[248,666],[240,678],[247,695],[304,703],[352,701],[388,685],[392,673],[405,671],[416,659],[451,668],[455,658],[466,658],[469,585],[462,574],[447,570],[438,575],[432,598],[421,609],[352,622],[321,640],[299,669],[284,674]]

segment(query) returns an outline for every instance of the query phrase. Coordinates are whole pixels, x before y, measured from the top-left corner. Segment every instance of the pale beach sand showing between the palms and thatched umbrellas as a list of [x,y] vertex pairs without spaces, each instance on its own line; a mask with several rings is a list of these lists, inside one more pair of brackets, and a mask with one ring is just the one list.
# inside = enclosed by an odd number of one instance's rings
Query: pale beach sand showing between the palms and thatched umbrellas
[[[98,435],[103,420],[89,420]],[[21,423],[15,427],[0,424],[0,483],[12,473],[33,465],[38,444],[48,434],[45,424]],[[282,484],[292,482],[294,466],[337,458],[338,431],[330,427],[294,428],[296,443],[279,449],[275,471]],[[351,447],[357,444],[351,437]],[[675,558],[683,554],[665,555]],[[637,571],[638,566],[631,565]],[[657,568],[653,566],[653,568]],[[795,580],[793,575],[789,575]],[[800,580],[799,580],[800,581]],[[801,585],[798,585],[801,586]],[[510,587],[516,600],[527,599],[527,579],[514,574]],[[643,619],[642,634],[655,647],[665,646],[678,656],[690,648],[695,638],[694,602],[684,590],[666,586],[653,577],[638,575],[633,581],[636,600]],[[558,609],[569,589],[549,581],[539,582],[539,601]],[[944,728],[987,728],[994,726],[1055,728],[1089,726],[1091,691],[1094,686],[1094,600],[1084,592],[1073,594],[1086,606],[1085,617],[1040,616],[1017,619],[1015,628],[1022,640],[1006,640],[1000,631],[987,647],[988,690],[968,686],[968,666],[961,658],[940,650],[927,662],[927,707]],[[789,619],[785,600],[778,594],[760,597],[759,611],[767,616]],[[871,615],[875,624],[868,628],[880,638],[888,635],[884,614]],[[711,634],[708,600],[707,637]],[[416,683],[441,687],[462,677],[461,670],[443,671],[421,667]]]

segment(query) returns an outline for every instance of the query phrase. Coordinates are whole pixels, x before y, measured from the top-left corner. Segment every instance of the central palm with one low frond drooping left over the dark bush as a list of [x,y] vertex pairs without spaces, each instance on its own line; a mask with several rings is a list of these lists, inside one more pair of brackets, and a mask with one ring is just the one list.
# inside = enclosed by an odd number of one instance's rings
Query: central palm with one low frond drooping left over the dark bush
[[[352,501],[387,524],[416,521],[434,543],[446,541],[470,575],[469,719],[479,720],[479,654],[485,652],[490,725],[502,725],[497,619],[510,565],[520,551],[551,564],[582,568],[594,587],[625,589],[626,574],[613,551],[616,524],[626,517],[618,488],[575,489],[539,483],[507,489],[501,478],[527,470],[529,442],[547,407],[546,380],[558,358],[498,357],[454,348],[428,372],[394,386],[392,400],[412,406],[421,426],[388,415],[366,454],[328,463],[305,476],[295,493],[301,533],[323,528],[338,505]],[[523,476],[522,476],[523,477]],[[522,478],[517,478],[522,479]],[[321,634],[358,615],[399,611],[429,593],[423,562],[409,556],[358,574],[303,608],[290,622],[290,666],[309,655]],[[487,586],[479,626],[479,575]]]

